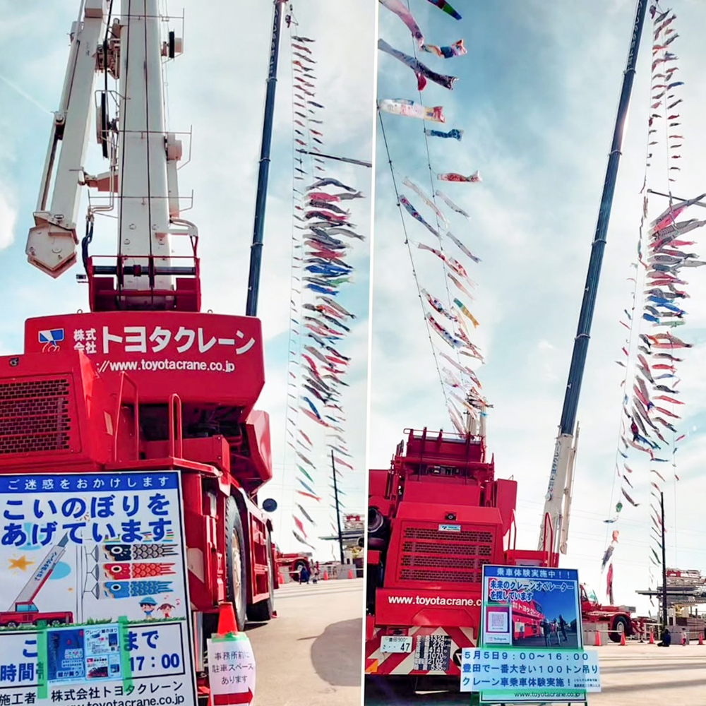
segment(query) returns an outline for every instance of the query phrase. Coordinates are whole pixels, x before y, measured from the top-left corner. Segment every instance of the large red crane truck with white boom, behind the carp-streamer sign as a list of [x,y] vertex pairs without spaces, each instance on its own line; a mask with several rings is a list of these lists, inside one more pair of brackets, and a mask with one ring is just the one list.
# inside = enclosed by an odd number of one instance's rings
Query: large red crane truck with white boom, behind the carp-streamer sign
[[[180,472],[203,695],[219,606],[233,604],[239,629],[273,616],[272,525],[258,506],[272,477],[268,414],[255,409],[263,337],[255,316],[201,311],[198,229],[180,214],[181,140],[165,129],[162,100],[162,61],[181,40],[160,35],[157,0],[121,5],[117,17],[112,3],[85,0],[73,23],[26,248],[44,273],[66,272],[78,259],[80,193],[95,189],[79,250],[90,311],[31,318],[24,353],[0,357],[0,473]],[[108,161],[97,175],[84,168],[94,101]],[[118,251],[90,256],[102,210]]]

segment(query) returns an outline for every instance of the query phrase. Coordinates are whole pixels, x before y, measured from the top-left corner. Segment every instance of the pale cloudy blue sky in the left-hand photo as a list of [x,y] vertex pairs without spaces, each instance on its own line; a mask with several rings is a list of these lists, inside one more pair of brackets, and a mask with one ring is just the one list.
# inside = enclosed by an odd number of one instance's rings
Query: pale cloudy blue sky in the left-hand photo
[[[295,3],[301,33],[317,40],[318,96],[326,106],[325,147],[334,154],[371,159],[373,138],[374,16],[369,4],[325,0]],[[299,6],[301,5],[301,6]],[[74,281],[73,268],[51,280],[25,262],[26,233],[32,225],[40,172],[68,58],[68,30],[79,3],[50,0],[13,3],[0,0],[0,281],[12,306],[0,321],[0,353],[22,349],[23,321],[30,316],[86,308],[86,292]],[[167,66],[167,123],[170,130],[193,126],[191,162],[179,172],[179,189],[190,195],[186,217],[198,225],[201,240],[203,310],[244,313],[252,237],[261,124],[265,97],[272,4],[204,4],[196,0],[160,3],[162,12],[184,37],[184,54]],[[184,29],[181,14],[186,18]],[[335,28],[344,22],[350,33]],[[32,47],[28,51],[28,47]],[[294,467],[285,459],[287,330],[292,233],[292,75],[289,40],[282,41],[277,85],[275,133],[265,249],[258,315],[263,321],[267,383],[259,407],[271,415],[275,478],[261,498],[273,496],[281,511],[275,516],[275,540],[295,549],[291,534]],[[12,86],[16,87],[13,88]],[[23,95],[24,94],[24,95]],[[88,168],[102,171],[91,138]],[[185,153],[189,145],[185,143]],[[98,166],[100,165],[100,166]],[[330,175],[353,183],[371,196],[371,169],[334,167]],[[370,235],[371,199],[356,203],[359,232]],[[79,220],[85,213],[85,200]],[[357,280],[342,303],[358,314],[345,351],[353,358],[344,398],[349,449],[356,472],[343,481],[347,507],[364,507],[366,358],[368,349],[369,242],[358,245],[349,261]],[[95,252],[112,253],[113,229],[100,220]],[[286,465],[285,465],[286,464]],[[327,489],[321,481],[321,494]],[[322,503],[324,504],[324,503]],[[316,513],[315,513],[316,515]],[[328,508],[316,515],[329,532]],[[321,558],[330,549],[317,545]]]

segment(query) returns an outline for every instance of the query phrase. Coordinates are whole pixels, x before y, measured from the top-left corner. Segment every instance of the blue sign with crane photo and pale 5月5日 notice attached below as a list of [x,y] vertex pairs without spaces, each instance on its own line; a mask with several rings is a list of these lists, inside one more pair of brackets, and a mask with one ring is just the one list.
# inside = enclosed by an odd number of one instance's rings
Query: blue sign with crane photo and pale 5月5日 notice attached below
[[479,645],[462,652],[461,690],[481,702],[585,702],[600,690],[583,650],[575,569],[484,566]]

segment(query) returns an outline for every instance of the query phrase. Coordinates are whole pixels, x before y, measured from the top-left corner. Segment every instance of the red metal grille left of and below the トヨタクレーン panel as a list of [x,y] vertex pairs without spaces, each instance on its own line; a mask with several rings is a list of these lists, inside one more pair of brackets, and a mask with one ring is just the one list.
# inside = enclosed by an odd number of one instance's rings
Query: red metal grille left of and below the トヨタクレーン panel
[[0,455],[71,448],[66,378],[0,383]]

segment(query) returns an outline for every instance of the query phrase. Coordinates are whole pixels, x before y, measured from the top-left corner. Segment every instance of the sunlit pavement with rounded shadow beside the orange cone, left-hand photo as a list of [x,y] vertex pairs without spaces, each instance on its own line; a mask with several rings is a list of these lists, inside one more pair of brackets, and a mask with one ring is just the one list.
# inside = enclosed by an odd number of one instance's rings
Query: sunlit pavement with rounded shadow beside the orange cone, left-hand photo
[[360,706],[362,579],[287,583],[277,618],[249,623],[256,660],[254,706]]

